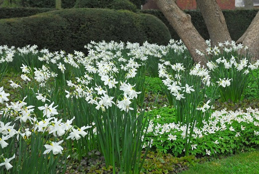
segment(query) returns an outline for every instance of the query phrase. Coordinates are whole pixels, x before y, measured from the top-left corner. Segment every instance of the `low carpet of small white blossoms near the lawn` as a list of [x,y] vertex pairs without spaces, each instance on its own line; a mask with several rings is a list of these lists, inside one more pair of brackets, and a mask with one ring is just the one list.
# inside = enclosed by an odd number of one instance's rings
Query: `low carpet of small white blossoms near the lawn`
[[[206,105],[206,104],[205,104]],[[246,129],[245,126],[243,126],[245,123],[253,124],[254,126],[259,127],[259,110],[258,109],[252,109],[247,108],[247,112],[244,112],[242,110],[237,111],[215,111],[212,113],[210,119],[208,122],[203,121],[202,127],[196,127],[194,126],[192,138],[202,138],[204,136],[208,136],[210,134],[216,134],[219,131],[225,131],[230,130],[236,132],[235,129],[231,126],[233,121],[237,121],[240,123],[240,128],[242,131]],[[154,124],[153,121],[150,122],[147,133],[149,133],[149,136],[154,139],[153,136],[156,137],[156,141],[160,141],[161,135],[167,135],[168,139],[170,141],[174,141],[177,139],[185,139],[186,138],[186,125],[180,125],[180,123],[164,123],[161,124]],[[154,132],[153,132],[154,130]],[[180,133],[180,134],[179,134]],[[236,136],[238,137],[241,135],[242,132],[236,132]],[[187,130],[188,136],[190,135],[190,127]],[[259,133],[254,131],[255,136],[259,136]],[[180,135],[180,136],[179,136]],[[216,140],[215,144],[219,144],[221,142],[221,139]],[[147,143],[144,144],[144,147],[146,147]],[[143,148],[144,148],[143,147]],[[192,144],[191,148],[196,149],[197,145]],[[210,155],[206,152],[207,155]]]

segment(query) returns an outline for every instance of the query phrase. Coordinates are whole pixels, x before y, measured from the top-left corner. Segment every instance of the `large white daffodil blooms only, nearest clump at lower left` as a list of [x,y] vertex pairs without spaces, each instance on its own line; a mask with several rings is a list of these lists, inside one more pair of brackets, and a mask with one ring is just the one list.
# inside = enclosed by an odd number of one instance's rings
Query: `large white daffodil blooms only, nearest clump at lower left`
[[[9,96],[9,94],[5,93],[3,87],[1,87],[0,101],[2,104],[6,105],[6,108],[0,111],[0,117],[14,118],[14,122],[8,122],[6,124],[0,121],[0,147],[2,149],[8,146],[6,140],[13,139],[14,137],[16,137],[17,141],[19,141],[20,137],[22,137],[23,139],[28,139],[31,136],[32,132],[47,132],[57,139],[61,139],[62,136],[65,135],[65,133],[69,133],[69,136],[66,139],[79,140],[81,137],[85,137],[87,135],[87,132],[85,132],[85,130],[92,127],[83,126],[81,128],[78,128],[72,125],[75,117],[71,120],[67,120],[66,122],[64,122],[62,119],[54,117],[55,115],[59,114],[56,109],[57,106],[53,106],[54,102],[52,102],[50,105],[45,104],[44,106],[38,107],[39,110],[43,111],[43,117],[45,117],[44,119],[40,119],[39,121],[39,118],[37,118],[34,113],[34,106],[27,106],[27,103],[24,102],[26,97],[22,101],[17,101],[15,103],[10,102],[10,104],[8,104],[5,103],[5,101],[8,101],[7,96]],[[42,100],[42,96],[42,94],[38,93],[37,99]],[[46,99],[46,96],[45,100],[49,101],[48,99]],[[23,126],[18,128],[18,130],[15,130],[14,125],[17,124],[15,123],[17,121],[19,121],[18,125],[22,124]],[[24,127],[24,124],[27,124],[27,126]],[[46,151],[44,151],[43,154],[49,153],[51,151],[54,155],[58,153],[62,154],[63,148],[60,146],[62,142],[63,140],[57,143],[49,141],[49,145],[44,145]],[[7,170],[11,169],[12,166],[9,164],[9,162],[14,158],[15,156],[10,159],[5,158],[4,163],[1,163],[0,166],[5,165]]]

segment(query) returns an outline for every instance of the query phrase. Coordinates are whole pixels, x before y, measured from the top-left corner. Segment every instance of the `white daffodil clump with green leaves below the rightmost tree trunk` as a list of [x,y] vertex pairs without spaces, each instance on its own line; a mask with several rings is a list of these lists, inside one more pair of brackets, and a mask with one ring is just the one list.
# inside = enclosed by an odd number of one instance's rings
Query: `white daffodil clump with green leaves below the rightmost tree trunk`
[[[219,46],[211,47],[207,41],[206,49],[209,61],[207,63],[211,80],[220,85],[218,91],[222,102],[238,102],[244,98],[244,91],[249,86],[248,74],[253,77],[253,70],[258,69],[259,60],[251,63],[250,55],[241,55],[239,52],[246,52],[248,47],[226,41],[219,43]],[[199,54],[199,50],[196,50]],[[253,81],[259,85],[259,77],[253,77]],[[226,87],[227,86],[227,87]],[[259,86],[258,86],[259,87]],[[259,92],[259,90],[257,90]]]

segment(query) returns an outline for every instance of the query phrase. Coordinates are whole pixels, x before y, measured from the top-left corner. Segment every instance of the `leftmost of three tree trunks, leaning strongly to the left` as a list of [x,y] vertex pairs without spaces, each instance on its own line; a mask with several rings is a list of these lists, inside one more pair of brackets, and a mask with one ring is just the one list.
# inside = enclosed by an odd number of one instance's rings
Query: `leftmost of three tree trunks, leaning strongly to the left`
[[196,53],[196,49],[206,53],[208,47],[205,40],[196,30],[191,22],[191,16],[183,12],[175,3],[174,0],[154,0],[163,12],[170,25],[174,28],[177,34],[182,39],[183,43],[189,50],[195,62],[200,62],[206,66],[205,55]]

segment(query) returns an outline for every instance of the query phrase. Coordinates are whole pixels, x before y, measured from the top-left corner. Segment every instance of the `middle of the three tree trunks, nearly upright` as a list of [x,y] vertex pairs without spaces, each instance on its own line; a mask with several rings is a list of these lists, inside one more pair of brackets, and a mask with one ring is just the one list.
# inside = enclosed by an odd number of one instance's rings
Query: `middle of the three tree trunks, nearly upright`
[[211,45],[219,42],[231,41],[225,17],[216,0],[196,0],[207,29],[210,34]]

